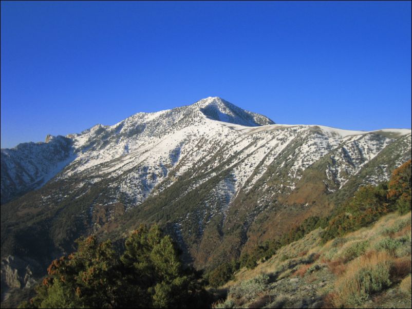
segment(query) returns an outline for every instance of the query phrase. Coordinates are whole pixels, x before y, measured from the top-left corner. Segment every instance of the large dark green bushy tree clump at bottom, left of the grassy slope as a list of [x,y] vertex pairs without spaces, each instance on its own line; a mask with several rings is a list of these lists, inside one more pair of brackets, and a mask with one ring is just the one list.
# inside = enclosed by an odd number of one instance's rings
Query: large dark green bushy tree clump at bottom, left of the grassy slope
[[[170,236],[141,225],[119,257],[110,241],[90,236],[77,252],[54,260],[36,288],[32,308],[204,307],[208,295],[190,268],[183,268]],[[203,303],[202,303],[203,302]]]

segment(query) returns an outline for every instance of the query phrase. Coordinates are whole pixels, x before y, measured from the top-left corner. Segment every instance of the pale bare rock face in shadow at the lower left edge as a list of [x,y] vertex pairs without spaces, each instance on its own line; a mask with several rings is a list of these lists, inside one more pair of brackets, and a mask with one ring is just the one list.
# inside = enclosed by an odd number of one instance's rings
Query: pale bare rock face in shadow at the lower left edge
[[[33,261],[32,261],[33,262]],[[1,262],[2,301],[7,299],[11,288],[30,288],[36,281],[28,261],[14,256],[7,256]]]

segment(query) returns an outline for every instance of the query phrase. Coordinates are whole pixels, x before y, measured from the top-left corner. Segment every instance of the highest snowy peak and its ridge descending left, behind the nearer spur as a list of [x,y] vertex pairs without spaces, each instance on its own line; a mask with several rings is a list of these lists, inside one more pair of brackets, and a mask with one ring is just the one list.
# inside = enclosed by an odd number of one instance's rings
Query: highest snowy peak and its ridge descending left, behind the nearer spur
[[207,98],[170,110],[140,112],[113,126],[98,124],[66,138],[47,136],[46,143],[24,143],[13,149],[2,149],[2,204],[38,188],[74,159],[76,162],[70,169],[76,173],[120,158],[147,143],[157,143],[184,128],[204,127],[208,119],[245,126],[274,123],[220,98]]

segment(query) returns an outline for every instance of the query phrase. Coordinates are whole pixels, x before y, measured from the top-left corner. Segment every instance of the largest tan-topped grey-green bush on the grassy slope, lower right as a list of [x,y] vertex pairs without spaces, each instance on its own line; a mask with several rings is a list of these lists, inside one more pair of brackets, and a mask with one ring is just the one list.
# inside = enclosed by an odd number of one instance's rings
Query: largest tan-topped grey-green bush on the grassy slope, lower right
[[386,252],[370,252],[350,262],[345,274],[336,280],[334,305],[359,305],[372,293],[389,286],[391,264]]

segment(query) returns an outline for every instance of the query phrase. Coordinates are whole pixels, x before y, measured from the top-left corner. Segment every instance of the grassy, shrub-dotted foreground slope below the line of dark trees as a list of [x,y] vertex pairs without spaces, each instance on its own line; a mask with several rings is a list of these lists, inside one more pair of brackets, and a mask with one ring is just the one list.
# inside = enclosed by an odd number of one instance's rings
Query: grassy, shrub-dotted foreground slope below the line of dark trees
[[216,308],[410,308],[411,214],[322,243],[318,228],[241,269]]

